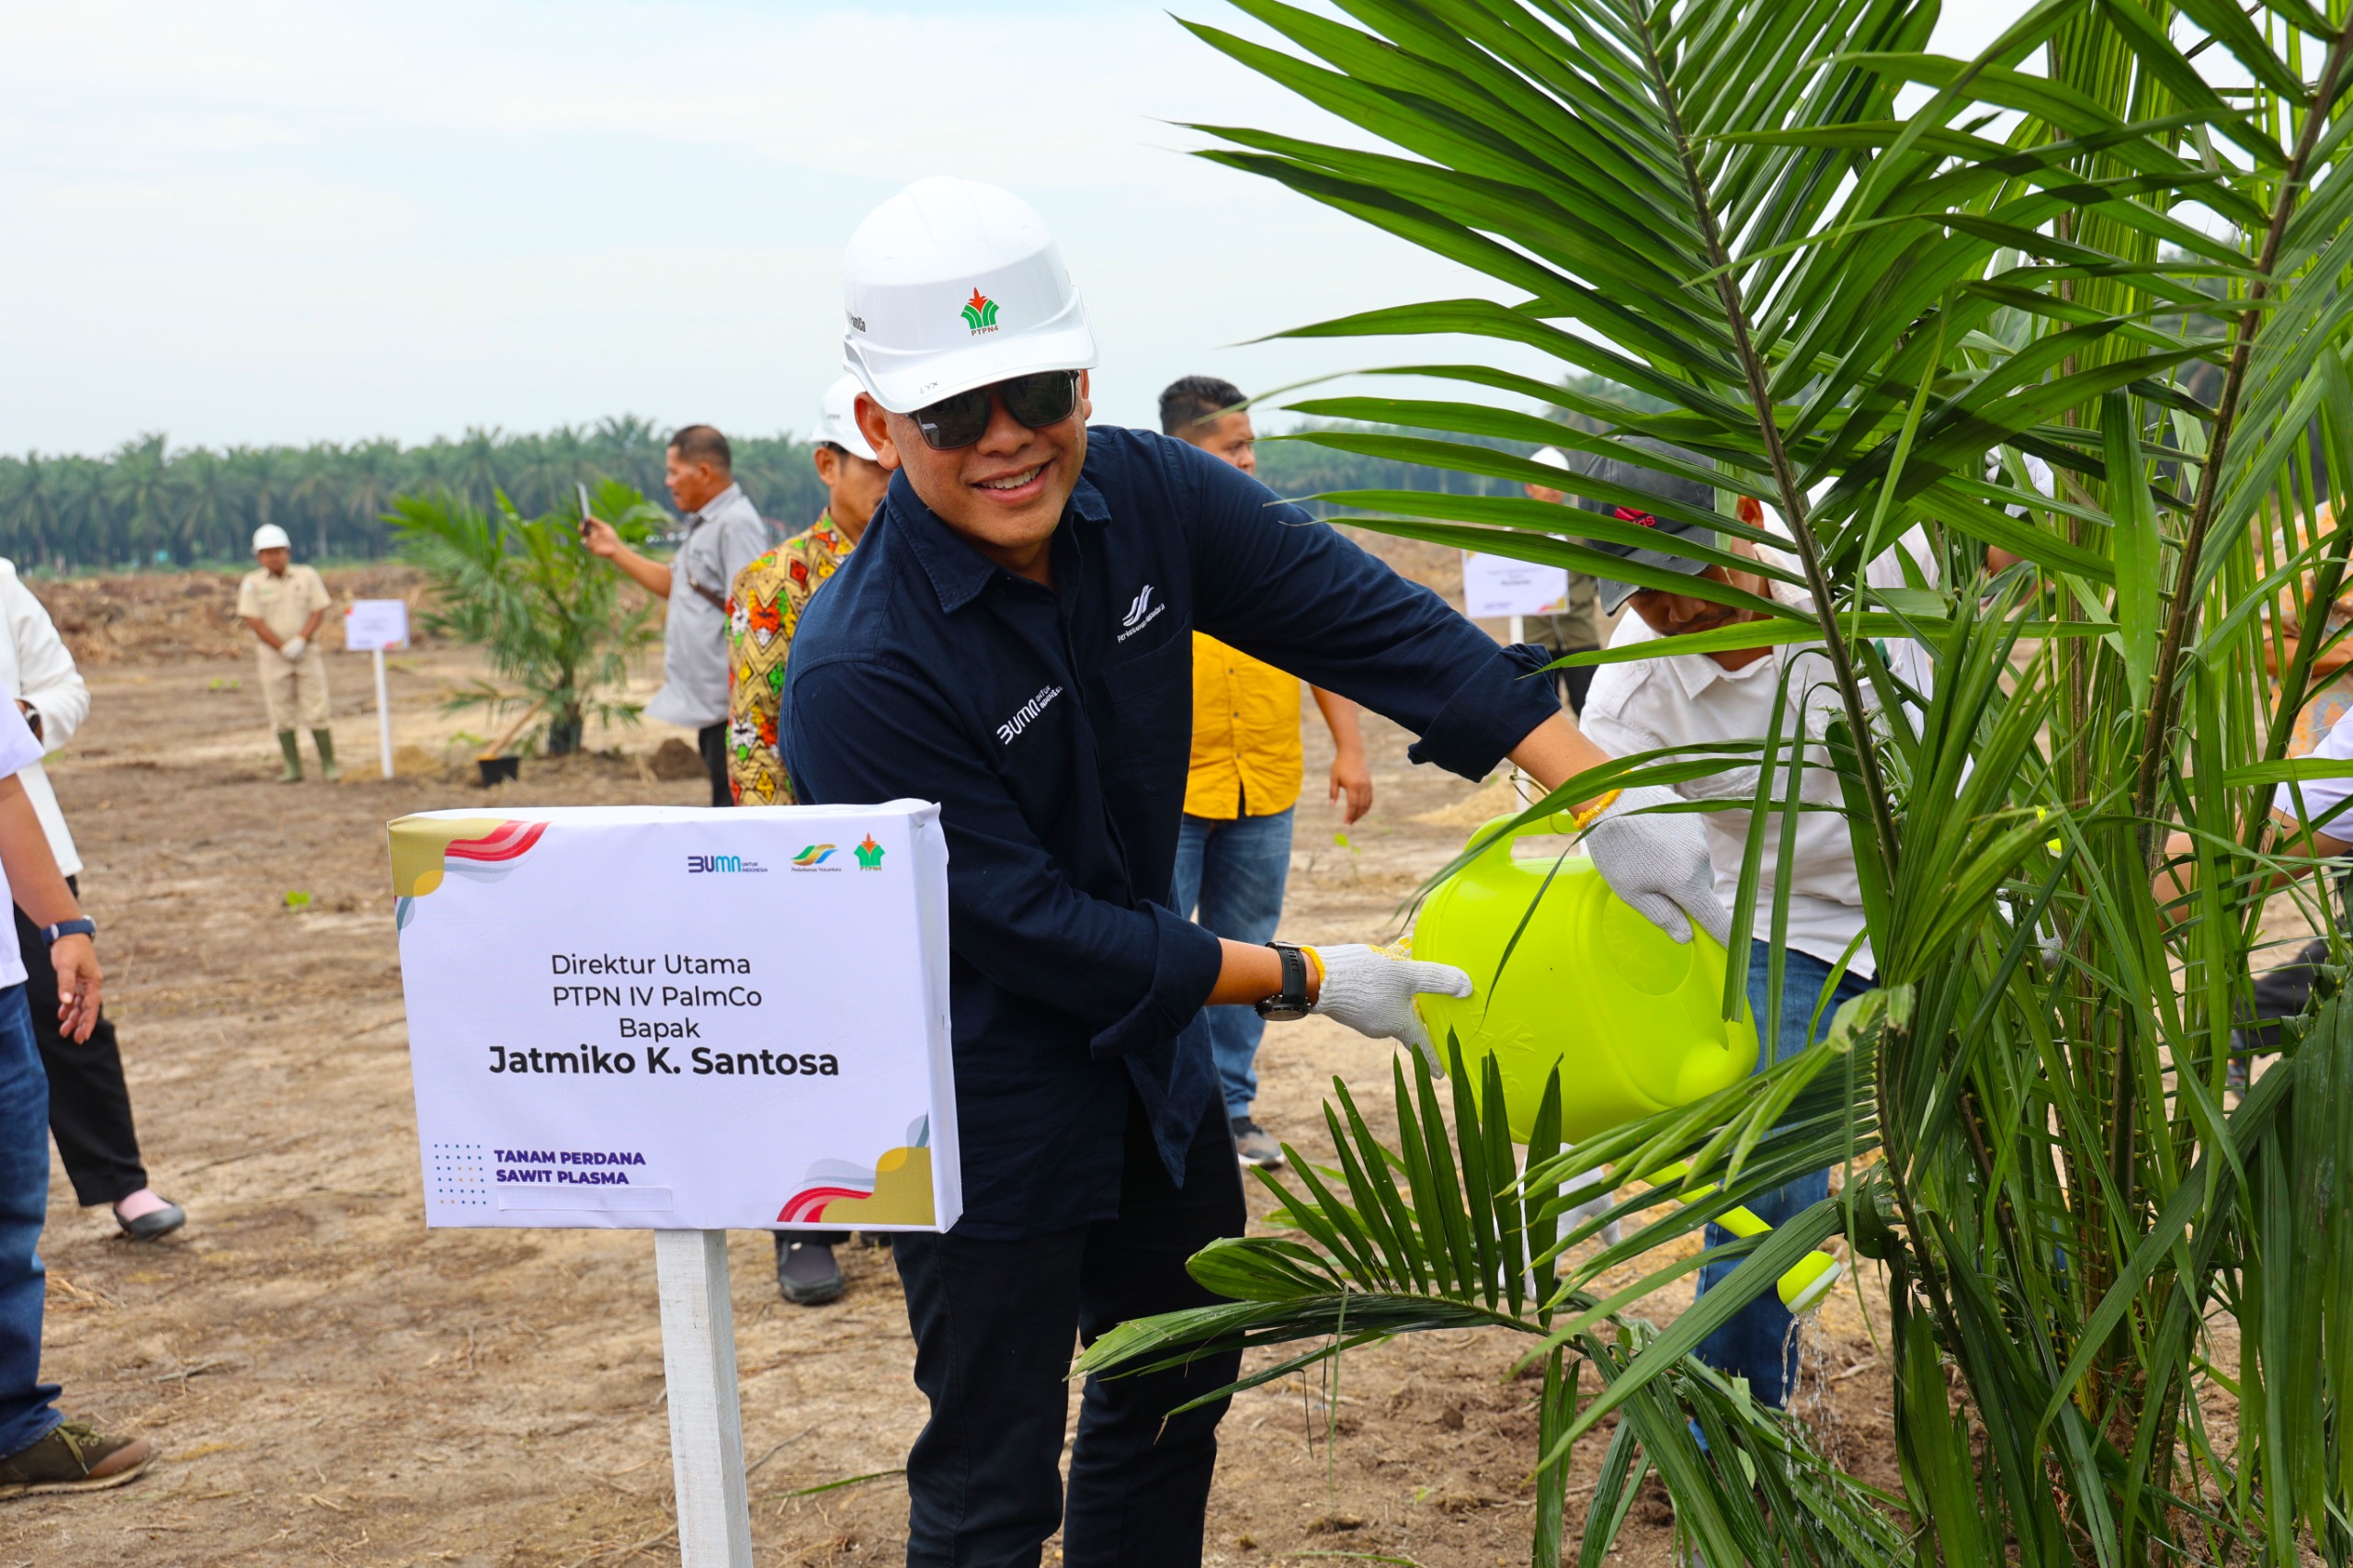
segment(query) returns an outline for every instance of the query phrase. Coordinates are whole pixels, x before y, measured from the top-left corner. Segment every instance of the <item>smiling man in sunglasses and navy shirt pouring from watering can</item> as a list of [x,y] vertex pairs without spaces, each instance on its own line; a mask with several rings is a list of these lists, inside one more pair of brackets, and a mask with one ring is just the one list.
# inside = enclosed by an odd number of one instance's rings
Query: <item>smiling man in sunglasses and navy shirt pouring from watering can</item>
[[[1096,363],[1042,221],[925,179],[849,238],[847,367],[892,483],[800,624],[786,673],[795,796],[939,800],[965,1212],[894,1253],[929,1422],[908,1453],[908,1563],[1200,1561],[1233,1356],[1089,1380],[1059,1457],[1075,1340],[1209,1302],[1186,1260],[1242,1231],[1207,1003],[1322,1012],[1428,1050],[1419,991],[1461,970],[1360,944],[1249,946],[1169,906],[1193,631],[1419,732],[1478,779],[1546,786],[1607,760],[1532,647],[1247,473],[1151,431],[1087,428]],[[1581,803],[1638,909],[1722,930],[1701,826],[1664,791]],[[1689,911],[1689,913],[1685,913]]]

